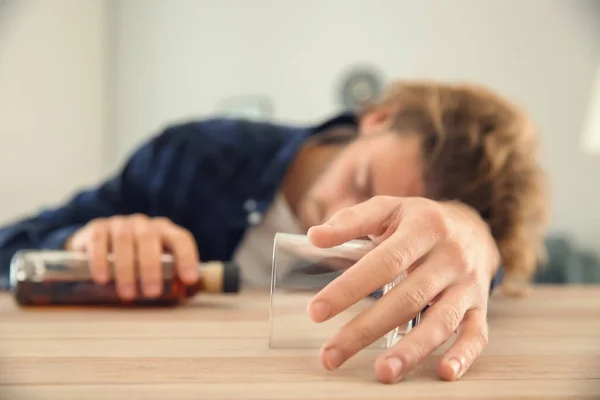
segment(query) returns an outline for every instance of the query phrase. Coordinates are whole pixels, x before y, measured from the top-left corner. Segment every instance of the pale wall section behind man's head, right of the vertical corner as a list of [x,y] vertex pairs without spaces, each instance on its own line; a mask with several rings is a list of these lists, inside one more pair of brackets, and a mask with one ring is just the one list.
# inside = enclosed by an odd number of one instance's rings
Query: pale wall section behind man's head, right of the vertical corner
[[116,160],[228,96],[266,94],[279,120],[327,117],[338,74],[369,61],[389,78],[483,82],[525,105],[543,132],[553,228],[600,244],[600,188],[584,181],[600,159],[579,138],[597,21],[595,0],[121,0]]

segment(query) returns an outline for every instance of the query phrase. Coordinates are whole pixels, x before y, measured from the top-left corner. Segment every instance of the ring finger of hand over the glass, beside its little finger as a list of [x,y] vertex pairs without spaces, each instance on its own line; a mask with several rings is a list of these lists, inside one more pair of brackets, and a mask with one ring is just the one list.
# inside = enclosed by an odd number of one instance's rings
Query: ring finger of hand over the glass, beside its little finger
[[444,293],[423,314],[420,324],[377,359],[377,378],[395,383],[414,370],[454,334],[472,303],[473,297],[464,286],[454,286]]

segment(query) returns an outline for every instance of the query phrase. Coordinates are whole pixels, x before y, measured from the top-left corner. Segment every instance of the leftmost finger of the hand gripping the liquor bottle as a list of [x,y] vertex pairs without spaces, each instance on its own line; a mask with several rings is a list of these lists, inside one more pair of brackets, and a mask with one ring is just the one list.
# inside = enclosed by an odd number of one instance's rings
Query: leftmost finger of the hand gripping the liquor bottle
[[90,263],[92,279],[99,284],[110,280],[110,265],[108,262],[109,231],[105,220],[95,220],[90,223],[85,250]]

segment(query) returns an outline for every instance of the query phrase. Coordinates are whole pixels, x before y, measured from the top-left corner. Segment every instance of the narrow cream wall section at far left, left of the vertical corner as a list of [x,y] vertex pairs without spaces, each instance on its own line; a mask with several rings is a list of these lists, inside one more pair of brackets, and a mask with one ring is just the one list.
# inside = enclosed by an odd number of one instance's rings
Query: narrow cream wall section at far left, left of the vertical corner
[[0,15],[0,221],[106,173],[108,1],[17,0]]

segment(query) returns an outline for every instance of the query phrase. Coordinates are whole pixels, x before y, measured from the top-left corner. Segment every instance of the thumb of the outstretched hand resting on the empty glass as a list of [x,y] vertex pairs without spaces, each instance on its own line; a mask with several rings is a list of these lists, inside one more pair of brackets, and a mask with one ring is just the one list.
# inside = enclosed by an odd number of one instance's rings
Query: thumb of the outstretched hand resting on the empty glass
[[391,224],[398,224],[401,200],[377,196],[352,207],[344,208],[324,224],[308,230],[308,238],[317,247],[333,247],[360,237],[381,235]]

